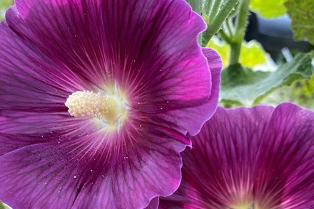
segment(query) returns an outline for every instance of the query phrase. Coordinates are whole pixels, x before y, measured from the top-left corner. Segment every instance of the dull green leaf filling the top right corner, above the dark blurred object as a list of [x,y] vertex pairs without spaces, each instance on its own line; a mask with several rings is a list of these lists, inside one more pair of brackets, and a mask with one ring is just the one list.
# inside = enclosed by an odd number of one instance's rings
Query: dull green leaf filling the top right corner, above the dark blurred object
[[285,2],[296,41],[307,40],[314,44],[314,1],[288,0]]

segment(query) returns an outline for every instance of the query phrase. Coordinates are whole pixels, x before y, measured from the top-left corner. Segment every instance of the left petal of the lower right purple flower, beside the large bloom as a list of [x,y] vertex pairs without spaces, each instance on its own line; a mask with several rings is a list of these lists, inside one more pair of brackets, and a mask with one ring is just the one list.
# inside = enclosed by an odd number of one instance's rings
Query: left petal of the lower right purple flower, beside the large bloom
[[183,153],[183,183],[177,193],[178,198],[181,193],[188,195],[187,200],[180,198],[183,205],[228,208],[241,188],[250,190],[245,186],[250,186],[251,164],[272,111],[271,107],[217,109],[200,134],[193,136],[193,149]]

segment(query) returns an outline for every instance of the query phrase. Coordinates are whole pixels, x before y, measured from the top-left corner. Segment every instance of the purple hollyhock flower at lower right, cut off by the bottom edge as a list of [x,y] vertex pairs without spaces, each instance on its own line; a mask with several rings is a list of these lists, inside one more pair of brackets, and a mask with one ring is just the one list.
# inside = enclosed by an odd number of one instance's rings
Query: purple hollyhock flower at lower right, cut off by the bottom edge
[[160,208],[313,208],[314,112],[220,107],[183,152],[182,172]]

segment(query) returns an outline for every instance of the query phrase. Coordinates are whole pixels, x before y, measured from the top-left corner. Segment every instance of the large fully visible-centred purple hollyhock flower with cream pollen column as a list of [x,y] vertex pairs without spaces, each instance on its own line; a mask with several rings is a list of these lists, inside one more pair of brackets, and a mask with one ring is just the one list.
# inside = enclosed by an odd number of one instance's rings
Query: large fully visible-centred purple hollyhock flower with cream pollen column
[[205,28],[183,0],[16,0],[0,23],[0,200],[143,208],[176,191],[186,134],[218,101]]

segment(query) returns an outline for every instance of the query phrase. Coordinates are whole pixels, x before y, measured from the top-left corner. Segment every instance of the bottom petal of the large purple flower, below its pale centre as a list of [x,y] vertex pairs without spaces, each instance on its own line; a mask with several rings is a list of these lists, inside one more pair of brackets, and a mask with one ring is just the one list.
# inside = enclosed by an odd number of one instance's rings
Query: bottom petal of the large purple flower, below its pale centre
[[118,144],[122,136],[101,132],[72,140],[0,134],[1,142],[14,137],[16,149],[0,156],[0,198],[13,208],[144,208],[181,181],[185,146],[155,132],[132,143],[124,133]]

